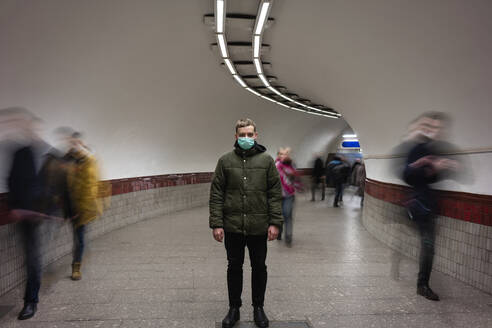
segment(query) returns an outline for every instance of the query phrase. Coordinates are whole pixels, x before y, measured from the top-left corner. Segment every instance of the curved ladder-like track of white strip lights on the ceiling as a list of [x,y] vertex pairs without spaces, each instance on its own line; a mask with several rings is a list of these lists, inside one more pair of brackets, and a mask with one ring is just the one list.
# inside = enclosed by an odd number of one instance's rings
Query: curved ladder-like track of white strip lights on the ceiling
[[340,118],[339,113],[327,106],[313,104],[287,92],[277,83],[277,77],[270,74],[271,64],[263,59],[270,52],[271,45],[263,43],[263,39],[265,30],[275,22],[269,17],[273,0],[259,1],[257,11],[252,12],[254,4],[214,0],[215,13],[204,16],[204,23],[215,30],[217,42],[212,47],[222,58],[222,65],[242,88],[262,99],[290,110]]

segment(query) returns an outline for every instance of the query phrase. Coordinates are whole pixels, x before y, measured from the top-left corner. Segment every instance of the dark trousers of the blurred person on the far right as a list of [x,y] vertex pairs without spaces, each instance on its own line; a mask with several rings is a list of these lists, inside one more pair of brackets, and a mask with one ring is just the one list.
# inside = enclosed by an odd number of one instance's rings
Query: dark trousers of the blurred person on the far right
[[416,223],[420,233],[420,258],[417,286],[427,286],[429,284],[432,264],[434,262],[434,242],[436,239],[435,218],[433,215],[419,217],[416,219]]

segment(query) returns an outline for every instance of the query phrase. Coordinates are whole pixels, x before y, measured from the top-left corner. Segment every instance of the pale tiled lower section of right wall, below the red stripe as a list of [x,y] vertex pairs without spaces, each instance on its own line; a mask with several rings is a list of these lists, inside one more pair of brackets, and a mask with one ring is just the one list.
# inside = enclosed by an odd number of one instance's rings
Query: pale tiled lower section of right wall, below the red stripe
[[[403,207],[366,193],[363,223],[383,243],[418,258],[420,236]],[[437,217],[434,270],[492,293],[492,227]]]

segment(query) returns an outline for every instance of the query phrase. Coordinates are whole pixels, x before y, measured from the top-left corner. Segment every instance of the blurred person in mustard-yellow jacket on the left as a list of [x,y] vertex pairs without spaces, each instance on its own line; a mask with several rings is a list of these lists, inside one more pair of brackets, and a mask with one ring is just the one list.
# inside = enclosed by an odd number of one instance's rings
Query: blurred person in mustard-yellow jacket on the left
[[99,169],[95,157],[82,141],[79,132],[68,127],[58,128],[56,132],[64,137],[65,147],[68,149],[63,157],[68,171],[68,197],[65,208],[67,216],[72,218],[74,232],[72,280],[80,280],[86,227],[102,212],[99,199]]

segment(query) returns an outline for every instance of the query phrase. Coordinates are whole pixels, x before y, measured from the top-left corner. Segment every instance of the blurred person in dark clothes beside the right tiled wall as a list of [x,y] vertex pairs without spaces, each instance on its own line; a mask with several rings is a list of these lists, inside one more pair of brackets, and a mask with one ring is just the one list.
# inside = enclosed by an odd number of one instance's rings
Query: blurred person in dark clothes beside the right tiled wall
[[400,147],[408,149],[403,179],[414,190],[412,198],[407,202],[407,210],[421,237],[417,294],[433,301],[439,301],[439,296],[429,287],[434,260],[437,199],[430,185],[449,177],[461,166],[445,155],[453,148],[443,141],[449,124],[450,118],[444,113],[424,113],[411,123],[410,137]]

